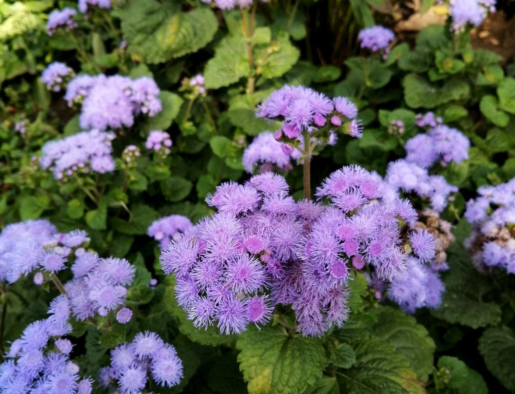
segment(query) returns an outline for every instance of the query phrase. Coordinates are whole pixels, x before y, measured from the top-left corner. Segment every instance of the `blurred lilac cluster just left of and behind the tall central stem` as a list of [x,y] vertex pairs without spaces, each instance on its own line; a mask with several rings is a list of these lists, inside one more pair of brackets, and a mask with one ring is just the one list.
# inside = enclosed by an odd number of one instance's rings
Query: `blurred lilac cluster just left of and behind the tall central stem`
[[[291,156],[297,156],[296,153],[300,156],[297,149]],[[273,171],[275,167],[283,172],[293,168],[290,157],[286,156],[281,148],[281,143],[269,131],[256,136],[252,143],[245,148],[242,161],[245,169],[250,174],[254,172],[254,166],[258,165],[260,173]]]

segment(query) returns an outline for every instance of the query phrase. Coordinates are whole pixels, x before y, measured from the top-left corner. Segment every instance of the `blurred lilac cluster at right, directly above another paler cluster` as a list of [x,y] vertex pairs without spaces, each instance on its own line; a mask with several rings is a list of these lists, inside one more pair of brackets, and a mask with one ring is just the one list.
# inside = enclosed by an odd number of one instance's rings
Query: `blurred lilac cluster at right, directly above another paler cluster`
[[420,127],[429,126],[428,131],[406,142],[406,161],[429,168],[437,162],[445,166],[469,158],[469,139],[457,129],[442,124],[441,118],[434,118],[432,112],[418,115],[416,123]]

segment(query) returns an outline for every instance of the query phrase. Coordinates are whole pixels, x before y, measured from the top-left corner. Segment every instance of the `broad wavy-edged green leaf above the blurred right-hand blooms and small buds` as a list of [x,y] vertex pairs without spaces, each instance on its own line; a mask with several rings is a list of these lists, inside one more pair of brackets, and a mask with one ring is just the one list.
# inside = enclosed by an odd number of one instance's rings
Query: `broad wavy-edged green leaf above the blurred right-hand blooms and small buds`
[[411,108],[435,108],[445,102],[470,97],[469,83],[459,78],[445,80],[442,87],[438,87],[415,74],[408,74],[402,84],[404,99]]

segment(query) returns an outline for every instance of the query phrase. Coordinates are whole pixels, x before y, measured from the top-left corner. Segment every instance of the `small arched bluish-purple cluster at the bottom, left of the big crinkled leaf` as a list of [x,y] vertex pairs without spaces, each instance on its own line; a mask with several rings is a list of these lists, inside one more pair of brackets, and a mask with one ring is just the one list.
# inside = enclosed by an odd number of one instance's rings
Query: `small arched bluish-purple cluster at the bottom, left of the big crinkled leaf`
[[100,381],[104,387],[116,382],[121,394],[135,394],[147,385],[149,372],[161,387],[173,387],[182,379],[182,361],[172,345],[145,331],[111,351],[111,366],[100,370]]

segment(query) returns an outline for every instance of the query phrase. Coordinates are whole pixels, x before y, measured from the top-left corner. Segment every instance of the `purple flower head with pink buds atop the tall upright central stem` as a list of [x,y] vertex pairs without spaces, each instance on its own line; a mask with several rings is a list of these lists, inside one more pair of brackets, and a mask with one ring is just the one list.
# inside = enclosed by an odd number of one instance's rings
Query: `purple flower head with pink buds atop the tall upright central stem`
[[[291,155],[301,145],[301,134],[306,131],[317,137],[317,143],[336,142],[336,131],[361,138],[363,126],[356,120],[357,108],[346,97],[332,100],[322,93],[302,86],[285,85],[272,92],[256,111],[257,117],[281,121],[275,138],[283,142],[285,155]],[[325,133],[324,133],[325,132]]]

